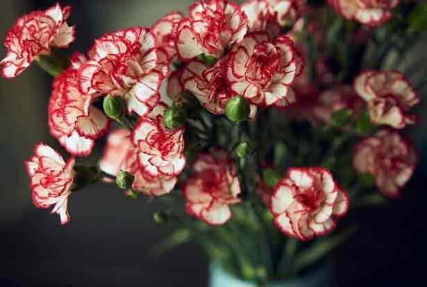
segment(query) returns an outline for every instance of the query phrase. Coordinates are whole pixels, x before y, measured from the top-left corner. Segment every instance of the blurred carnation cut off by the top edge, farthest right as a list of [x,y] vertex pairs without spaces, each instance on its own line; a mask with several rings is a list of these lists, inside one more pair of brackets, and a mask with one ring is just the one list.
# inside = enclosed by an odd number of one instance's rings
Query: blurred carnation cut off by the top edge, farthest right
[[328,0],[342,17],[368,26],[380,26],[392,17],[399,0]]

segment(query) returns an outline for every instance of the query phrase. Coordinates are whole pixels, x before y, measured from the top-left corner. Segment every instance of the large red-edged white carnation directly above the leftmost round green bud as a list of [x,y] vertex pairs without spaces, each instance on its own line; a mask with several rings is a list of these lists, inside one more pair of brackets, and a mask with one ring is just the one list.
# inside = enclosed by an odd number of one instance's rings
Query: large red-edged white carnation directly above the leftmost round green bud
[[129,28],[103,35],[88,54],[91,60],[77,73],[83,94],[122,96],[129,112],[140,116],[156,107],[167,53],[156,48],[156,36],[149,29]]

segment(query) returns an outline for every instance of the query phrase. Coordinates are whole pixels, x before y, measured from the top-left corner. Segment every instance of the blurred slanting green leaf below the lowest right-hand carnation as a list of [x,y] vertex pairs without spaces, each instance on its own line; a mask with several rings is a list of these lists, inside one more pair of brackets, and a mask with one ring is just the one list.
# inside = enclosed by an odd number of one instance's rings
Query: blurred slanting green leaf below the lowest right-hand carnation
[[319,261],[326,254],[334,250],[336,247],[347,241],[355,232],[356,227],[349,227],[339,234],[325,238],[324,240],[314,243],[311,247],[300,252],[292,266],[293,272],[299,272],[304,268],[311,266]]

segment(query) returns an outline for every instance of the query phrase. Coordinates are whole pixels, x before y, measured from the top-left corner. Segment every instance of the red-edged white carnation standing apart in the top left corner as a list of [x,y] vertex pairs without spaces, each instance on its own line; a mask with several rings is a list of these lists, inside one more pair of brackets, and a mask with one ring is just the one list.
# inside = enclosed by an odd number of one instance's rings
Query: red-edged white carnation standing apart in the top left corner
[[44,11],[34,11],[17,19],[6,34],[8,49],[1,60],[1,76],[15,78],[39,55],[49,55],[51,47],[66,48],[74,41],[74,27],[66,20],[71,8],[57,3]]

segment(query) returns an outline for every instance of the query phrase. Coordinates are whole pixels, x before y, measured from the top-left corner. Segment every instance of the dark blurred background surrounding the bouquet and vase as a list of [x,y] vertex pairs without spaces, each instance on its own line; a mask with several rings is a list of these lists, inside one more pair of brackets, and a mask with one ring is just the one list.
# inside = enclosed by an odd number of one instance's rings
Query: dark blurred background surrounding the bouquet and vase
[[[1,42],[17,17],[56,2],[1,1]],[[171,10],[185,11],[193,1],[59,2],[73,7],[68,23],[77,26],[77,39],[71,49],[85,51],[103,33],[151,26]],[[424,55],[427,64],[425,48],[421,43],[413,53]],[[1,58],[4,54],[1,47]],[[153,223],[153,211],[162,208],[156,200],[127,200],[121,191],[99,184],[72,196],[72,221],[66,227],[58,216],[37,210],[23,162],[39,141],[60,150],[47,126],[51,78],[33,65],[14,80],[1,78],[0,91],[0,286],[207,286],[208,259],[196,244],[159,259],[147,254],[171,230]],[[427,112],[427,101],[417,112]],[[410,130],[421,162],[403,198],[359,212],[360,232],[335,252],[338,286],[426,286],[426,131],[427,119]]]

